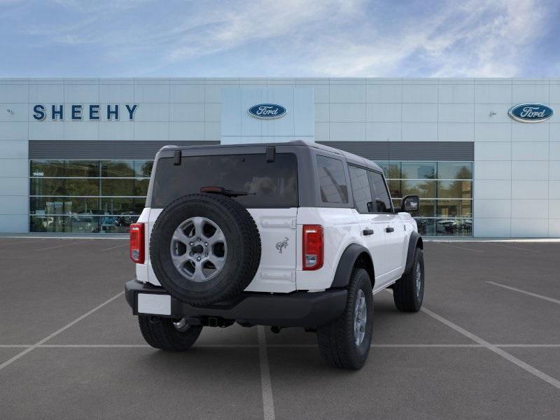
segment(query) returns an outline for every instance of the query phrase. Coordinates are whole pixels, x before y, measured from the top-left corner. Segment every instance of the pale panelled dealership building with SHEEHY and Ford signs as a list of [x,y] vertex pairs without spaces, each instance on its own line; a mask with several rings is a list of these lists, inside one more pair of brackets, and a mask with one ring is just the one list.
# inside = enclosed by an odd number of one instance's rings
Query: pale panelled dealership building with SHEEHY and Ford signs
[[560,79],[4,78],[0,232],[125,233],[160,147],[304,139],[419,195],[423,235],[560,237],[556,108]]

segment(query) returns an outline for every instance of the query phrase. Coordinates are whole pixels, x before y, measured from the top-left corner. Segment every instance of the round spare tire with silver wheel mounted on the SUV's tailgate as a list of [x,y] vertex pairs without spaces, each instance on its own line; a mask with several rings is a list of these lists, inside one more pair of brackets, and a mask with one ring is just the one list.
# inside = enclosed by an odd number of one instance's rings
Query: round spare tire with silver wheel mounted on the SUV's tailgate
[[232,299],[251,283],[260,264],[260,235],[239,202],[189,194],[165,207],[155,221],[150,260],[173,297],[207,306]]

